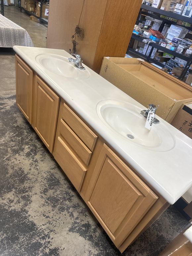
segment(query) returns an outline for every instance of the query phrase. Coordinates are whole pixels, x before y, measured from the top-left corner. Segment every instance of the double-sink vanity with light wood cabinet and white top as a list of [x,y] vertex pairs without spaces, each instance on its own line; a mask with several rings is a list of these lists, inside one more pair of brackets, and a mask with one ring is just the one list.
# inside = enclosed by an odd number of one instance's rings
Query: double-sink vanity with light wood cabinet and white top
[[158,116],[146,129],[146,106],[66,51],[13,49],[17,106],[123,252],[192,186],[192,140]]

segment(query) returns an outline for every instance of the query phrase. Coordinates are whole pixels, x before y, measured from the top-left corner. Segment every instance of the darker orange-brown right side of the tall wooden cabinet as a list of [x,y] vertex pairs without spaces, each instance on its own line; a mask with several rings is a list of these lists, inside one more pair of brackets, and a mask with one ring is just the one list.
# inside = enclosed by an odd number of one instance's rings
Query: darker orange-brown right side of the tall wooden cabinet
[[95,53],[93,70],[100,71],[104,56],[124,57],[142,0],[108,0]]

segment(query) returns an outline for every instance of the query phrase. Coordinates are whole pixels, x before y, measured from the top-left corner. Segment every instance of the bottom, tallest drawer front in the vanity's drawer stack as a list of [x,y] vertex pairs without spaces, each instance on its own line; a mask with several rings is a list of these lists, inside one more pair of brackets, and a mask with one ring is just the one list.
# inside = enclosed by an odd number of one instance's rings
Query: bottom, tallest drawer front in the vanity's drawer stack
[[57,138],[55,160],[71,180],[76,190],[80,192],[87,170],[61,137]]

